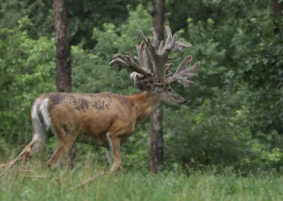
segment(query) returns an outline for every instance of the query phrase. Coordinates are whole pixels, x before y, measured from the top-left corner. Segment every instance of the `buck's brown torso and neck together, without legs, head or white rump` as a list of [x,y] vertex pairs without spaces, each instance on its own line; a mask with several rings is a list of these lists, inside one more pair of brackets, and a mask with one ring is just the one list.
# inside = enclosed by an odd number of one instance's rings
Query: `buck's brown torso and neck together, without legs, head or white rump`
[[151,115],[159,101],[151,93],[120,96],[110,93],[46,93],[35,101],[49,98],[48,112],[59,139],[83,134],[107,145],[110,137],[129,137],[137,122]]

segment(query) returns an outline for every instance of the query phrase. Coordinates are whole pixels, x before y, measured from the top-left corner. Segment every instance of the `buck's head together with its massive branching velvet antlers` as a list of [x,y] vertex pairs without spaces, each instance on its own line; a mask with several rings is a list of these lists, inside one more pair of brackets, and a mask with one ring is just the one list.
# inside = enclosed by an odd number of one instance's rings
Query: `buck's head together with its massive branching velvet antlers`
[[118,71],[120,71],[122,67],[132,69],[134,72],[130,75],[130,78],[134,80],[134,86],[139,88],[140,91],[154,93],[163,103],[179,103],[181,105],[185,104],[187,101],[176,93],[173,88],[171,88],[170,84],[183,83],[185,88],[193,84],[192,81],[188,81],[187,79],[197,76],[197,74],[194,73],[200,66],[200,62],[187,68],[192,62],[192,56],[187,56],[183,62],[181,62],[175,74],[169,71],[174,65],[166,64],[166,62],[177,59],[177,57],[168,57],[169,54],[174,51],[181,54],[183,52],[182,47],[189,48],[192,47],[192,45],[183,42],[183,40],[176,42],[177,35],[172,37],[171,30],[168,26],[166,30],[168,38],[165,45],[163,45],[163,40],[158,44],[154,28],[151,28],[154,36],[153,43],[139,30],[142,42],[141,45],[136,45],[138,57],[134,57],[134,59],[139,62],[139,65],[134,62],[129,52],[127,52],[127,55],[115,54],[112,62],[109,64],[110,66],[117,64]]

